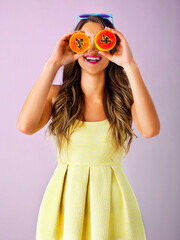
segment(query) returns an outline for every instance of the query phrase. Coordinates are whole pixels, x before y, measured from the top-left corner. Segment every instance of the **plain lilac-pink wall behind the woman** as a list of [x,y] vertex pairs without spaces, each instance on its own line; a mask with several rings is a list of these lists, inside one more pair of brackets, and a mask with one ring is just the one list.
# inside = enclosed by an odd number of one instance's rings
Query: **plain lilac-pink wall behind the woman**
[[[91,4],[90,4],[91,3]],[[161,132],[138,139],[123,169],[139,203],[147,240],[178,240],[180,2],[0,1],[0,239],[35,239],[42,196],[56,167],[46,126],[34,135],[17,129],[26,97],[56,41],[73,31],[80,13],[111,13],[126,37],[161,122]],[[62,81],[62,69],[55,84]]]

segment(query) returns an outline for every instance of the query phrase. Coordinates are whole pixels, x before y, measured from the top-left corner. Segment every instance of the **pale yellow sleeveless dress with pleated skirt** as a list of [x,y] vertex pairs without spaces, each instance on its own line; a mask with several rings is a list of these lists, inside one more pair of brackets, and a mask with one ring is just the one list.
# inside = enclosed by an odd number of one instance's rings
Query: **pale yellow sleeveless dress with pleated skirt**
[[[80,121],[80,120],[76,120]],[[135,194],[107,119],[84,122],[63,145],[39,209],[36,240],[145,240]]]

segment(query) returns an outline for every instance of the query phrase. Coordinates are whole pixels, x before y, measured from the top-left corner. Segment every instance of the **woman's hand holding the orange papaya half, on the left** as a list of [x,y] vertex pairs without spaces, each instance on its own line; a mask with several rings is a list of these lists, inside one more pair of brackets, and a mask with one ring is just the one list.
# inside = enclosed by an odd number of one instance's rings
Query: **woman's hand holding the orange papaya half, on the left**
[[50,60],[54,61],[58,67],[76,61],[78,58],[82,57],[84,53],[73,53],[69,46],[69,39],[71,35],[76,32],[84,31],[73,31],[64,34],[57,42],[50,56]]

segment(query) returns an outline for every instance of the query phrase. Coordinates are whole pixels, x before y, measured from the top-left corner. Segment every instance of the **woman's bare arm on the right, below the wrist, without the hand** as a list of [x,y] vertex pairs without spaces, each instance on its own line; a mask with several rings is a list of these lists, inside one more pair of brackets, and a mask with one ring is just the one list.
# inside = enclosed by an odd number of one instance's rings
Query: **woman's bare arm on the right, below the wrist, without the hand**
[[131,106],[133,121],[144,137],[154,137],[160,132],[160,120],[139,67],[135,62],[132,62],[127,64],[124,69],[133,92],[134,103]]

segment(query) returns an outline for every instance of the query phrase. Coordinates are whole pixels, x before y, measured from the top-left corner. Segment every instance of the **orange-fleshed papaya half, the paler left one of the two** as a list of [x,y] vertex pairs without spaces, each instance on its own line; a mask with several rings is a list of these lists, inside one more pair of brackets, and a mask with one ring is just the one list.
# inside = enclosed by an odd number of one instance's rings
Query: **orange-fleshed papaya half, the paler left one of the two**
[[83,53],[90,47],[90,39],[86,33],[74,33],[69,39],[69,46],[75,53]]

